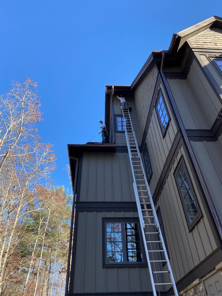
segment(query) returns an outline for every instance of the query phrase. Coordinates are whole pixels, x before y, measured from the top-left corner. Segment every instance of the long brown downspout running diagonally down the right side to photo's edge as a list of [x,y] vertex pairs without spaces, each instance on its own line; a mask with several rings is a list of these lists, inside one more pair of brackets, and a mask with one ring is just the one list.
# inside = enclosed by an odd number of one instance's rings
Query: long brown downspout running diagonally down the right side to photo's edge
[[[168,52],[168,53],[169,53],[169,52]],[[195,168],[195,170],[196,170],[196,172],[197,172],[197,176],[198,176],[198,178],[199,178],[199,180],[200,180],[200,184],[201,184],[201,186],[202,186],[202,189],[203,189],[203,192],[204,192],[204,194],[205,194],[206,200],[207,200],[208,205],[209,205],[209,207],[210,207],[210,211],[211,211],[211,213],[212,213],[212,215],[213,215],[213,219],[214,219],[214,221],[215,221],[215,224],[216,224],[217,229],[218,229],[218,231],[219,231],[220,237],[221,237],[221,239],[222,239],[222,226],[221,226],[221,221],[220,221],[220,219],[219,219],[219,217],[218,217],[218,213],[217,213],[217,211],[216,211],[216,209],[215,209],[215,206],[214,206],[214,204],[213,204],[212,197],[210,196],[210,193],[209,193],[209,191],[208,191],[208,188],[207,188],[207,185],[206,185],[206,183],[205,183],[204,177],[203,177],[203,175],[202,175],[202,172],[201,172],[201,170],[200,170],[200,167],[199,167],[199,165],[198,165],[198,163],[197,163],[197,160],[196,160],[196,157],[195,157],[195,155],[194,155],[194,152],[193,152],[192,146],[191,146],[190,141],[189,141],[189,139],[188,139],[188,137],[187,137],[187,134],[186,134],[186,131],[185,131],[185,128],[184,128],[184,124],[183,124],[183,122],[182,122],[181,116],[180,116],[180,114],[179,114],[178,108],[177,108],[176,103],[175,103],[175,100],[174,100],[174,98],[173,98],[173,94],[171,93],[170,87],[169,87],[168,82],[167,82],[167,80],[166,80],[166,78],[165,78],[165,75],[164,75],[164,72],[163,72],[163,64],[164,64],[165,54],[164,54],[164,52],[161,52],[161,54],[162,54],[162,62],[161,62],[160,73],[161,73],[161,76],[162,76],[162,78],[163,78],[163,82],[164,82],[165,87],[166,87],[166,89],[167,89],[168,95],[169,95],[169,97],[170,97],[170,102],[171,102],[171,104],[172,104],[172,106],[173,106],[174,112],[176,113],[176,118],[177,118],[177,120],[178,120],[179,126],[180,126],[181,131],[182,131],[182,134],[183,134],[183,136],[184,136],[184,140],[185,140],[185,142],[186,142],[186,146],[187,146],[187,148],[188,148],[188,151],[189,151],[189,153],[190,153],[191,159],[192,159],[192,161],[193,161],[194,168]]]

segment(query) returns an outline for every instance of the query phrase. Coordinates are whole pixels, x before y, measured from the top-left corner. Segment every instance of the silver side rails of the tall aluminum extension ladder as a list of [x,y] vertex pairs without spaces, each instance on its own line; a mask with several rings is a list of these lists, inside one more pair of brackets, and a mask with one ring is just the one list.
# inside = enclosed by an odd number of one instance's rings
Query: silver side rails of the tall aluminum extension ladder
[[[177,288],[176,288],[176,283],[175,283],[175,280],[174,280],[174,277],[173,277],[173,272],[172,272],[172,269],[171,269],[171,266],[170,266],[170,261],[169,261],[169,258],[168,258],[166,246],[165,246],[165,243],[164,243],[164,240],[163,240],[163,234],[161,232],[160,224],[159,224],[159,221],[158,221],[158,218],[157,218],[157,213],[156,213],[155,205],[154,205],[154,202],[153,202],[153,199],[152,199],[152,194],[150,192],[150,188],[149,188],[149,184],[147,182],[147,178],[146,178],[144,166],[143,166],[143,163],[142,163],[142,160],[141,160],[141,155],[140,155],[139,147],[138,147],[138,144],[137,144],[137,141],[136,141],[136,135],[135,135],[134,130],[133,130],[133,125],[132,125],[131,117],[130,117],[130,114],[129,114],[129,110],[127,110],[128,118],[125,117],[125,114],[124,114],[123,109],[122,109],[122,113],[123,113],[123,118],[125,119],[124,120],[124,124],[125,124],[125,136],[126,136],[126,143],[127,143],[127,148],[128,148],[129,156],[130,156],[131,170],[132,170],[132,173],[133,173],[133,189],[134,189],[134,193],[135,193],[135,197],[136,197],[136,204],[137,204],[137,209],[138,209],[140,224],[141,224],[141,226],[144,225],[144,217],[142,215],[141,203],[139,201],[138,189],[136,187],[136,178],[135,178],[135,173],[134,173],[134,170],[136,170],[136,169],[133,168],[133,163],[132,163],[131,148],[130,148],[130,142],[129,142],[129,138],[128,138],[128,131],[127,131],[127,127],[126,127],[126,121],[127,120],[130,120],[130,124],[131,124],[131,131],[130,131],[130,133],[133,133],[133,137],[134,137],[134,141],[131,141],[131,143],[133,143],[133,146],[136,146],[136,149],[132,149],[132,150],[137,150],[137,152],[134,152],[134,153],[137,153],[138,154],[138,158],[139,158],[138,162],[140,162],[139,166],[141,166],[142,173],[143,173],[143,176],[144,176],[144,181],[145,181],[145,184],[146,184],[146,187],[147,187],[147,191],[148,191],[148,194],[149,194],[149,201],[151,203],[152,212],[153,212],[153,215],[155,217],[155,223],[157,225],[157,229],[158,229],[158,232],[159,232],[159,235],[160,235],[160,240],[161,240],[161,243],[162,243],[162,246],[163,246],[164,255],[165,255],[165,261],[166,261],[167,268],[168,268],[169,273],[170,273],[170,277],[171,277],[173,289],[174,289],[174,292],[175,292],[175,296],[178,296],[178,292],[177,292]],[[148,261],[148,265],[149,265],[149,270],[152,271],[151,264],[150,264],[150,262],[152,262],[152,260],[151,261],[149,260],[149,252],[148,252],[148,249],[147,249],[147,242],[146,242],[145,232],[144,231],[142,231],[142,236],[143,236],[143,241],[144,241],[144,246],[145,246],[145,251],[146,251],[146,257],[147,257],[147,261]],[[155,289],[155,284],[154,284],[154,279],[153,279],[152,272],[150,272],[150,278],[151,278],[151,284],[152,284],[153,292],[154,292],[154,294],[156,294],[156,289]],[[154,296],[156,296],[156,295],[154,295]]]

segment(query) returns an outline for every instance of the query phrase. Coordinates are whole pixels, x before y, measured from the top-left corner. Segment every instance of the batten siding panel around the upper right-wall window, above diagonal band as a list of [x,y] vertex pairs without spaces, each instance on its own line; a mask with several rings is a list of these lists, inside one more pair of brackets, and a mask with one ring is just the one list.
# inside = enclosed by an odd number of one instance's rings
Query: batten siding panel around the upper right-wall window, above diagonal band
[[157,112],[154,107],[151,120],[149,123],[149,128],[146,136],[147,149],[149,151],[149,158],[152,166],[152,178],[150,180],[150,190],[151,193],[155,191],[157,182],[160,178],[163,166],[165,164],[166,158],[169,154],[170,148],[173,144],[177,133],[177,127],[173,120],[173,115],[170,111],[170,107],[166,98],[166,93],[163,85],[160,84],[160,90],[163,95],[164,103],[168,111],[170,118],[168,128],[166,130],[165,136],[163,138],[162,131],[160,128],[160,123],[157,118]]

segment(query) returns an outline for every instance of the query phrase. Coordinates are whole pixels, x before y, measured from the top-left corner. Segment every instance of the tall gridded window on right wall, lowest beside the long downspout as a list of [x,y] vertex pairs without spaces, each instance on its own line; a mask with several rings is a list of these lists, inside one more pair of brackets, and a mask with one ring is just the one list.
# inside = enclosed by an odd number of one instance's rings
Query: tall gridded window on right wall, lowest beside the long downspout
[[191,231],[197,223],[197,220],[199,221],[199,218],[201,218],[201,212],[183,157],[181,157],[177,165],[174,178],[180,194],[189,231]]

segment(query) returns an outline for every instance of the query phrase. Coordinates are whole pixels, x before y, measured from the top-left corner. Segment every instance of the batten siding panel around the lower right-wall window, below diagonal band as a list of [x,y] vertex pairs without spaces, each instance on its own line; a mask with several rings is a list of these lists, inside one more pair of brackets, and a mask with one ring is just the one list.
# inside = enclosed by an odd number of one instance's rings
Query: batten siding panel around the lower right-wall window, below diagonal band
[[[189,232],[186,223],[185,214],[173,175],[181,155],[184,157],[203,214],[203,218],[200,219],[191,232]],[[175,281],[177,282],[217,248],[210,224],[205,214],[205,208],[202,205],[198,189],[192,176],[192,171],[189,168],[182,146],[179,148],[178,154],[165,181],[156,209],[158,207],[160,207],[163,220],[170,265]]]

